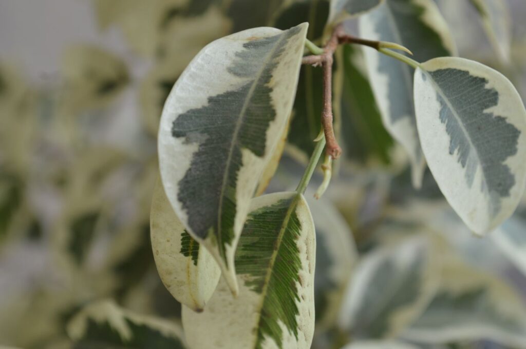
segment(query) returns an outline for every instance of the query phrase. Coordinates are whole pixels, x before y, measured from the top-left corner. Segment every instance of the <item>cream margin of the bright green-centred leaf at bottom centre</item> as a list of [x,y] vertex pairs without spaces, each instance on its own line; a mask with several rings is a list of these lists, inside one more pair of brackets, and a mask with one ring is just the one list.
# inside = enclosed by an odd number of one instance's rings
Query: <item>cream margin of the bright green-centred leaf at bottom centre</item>
[[[289,199],[296,193],[274,193],[252,199],[250,210],[271,206],[281,199]],[[298,341],[287,327],[278,322],[282,333],[282,348],[309,349],[314,333],[314,271],[316,264],[316,236],[310,209],[301,196],[296,215],[301,224],[300,236],[296,244],[300,250],[301,283],[297,284],[300,301],[296,301],[299,315]],[[250,289],[245,282],[250,281],[237,276],[239,294],[233,299],[224,280],[219,281],[216,292],[202,313],[183,307],[183,327],[191,349],[255,349],[256,331],[264,298]],[[266,337],[262,349],[281,349]]]

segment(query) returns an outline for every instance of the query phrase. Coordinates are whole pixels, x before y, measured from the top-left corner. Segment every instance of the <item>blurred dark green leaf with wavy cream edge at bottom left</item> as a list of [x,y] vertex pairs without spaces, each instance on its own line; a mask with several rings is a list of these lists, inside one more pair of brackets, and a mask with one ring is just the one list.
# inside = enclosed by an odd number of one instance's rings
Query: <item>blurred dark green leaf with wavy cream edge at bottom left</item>
[[180,325],[132,313],[113,301],[91,303],[67,324],[75,348],[186,349]]

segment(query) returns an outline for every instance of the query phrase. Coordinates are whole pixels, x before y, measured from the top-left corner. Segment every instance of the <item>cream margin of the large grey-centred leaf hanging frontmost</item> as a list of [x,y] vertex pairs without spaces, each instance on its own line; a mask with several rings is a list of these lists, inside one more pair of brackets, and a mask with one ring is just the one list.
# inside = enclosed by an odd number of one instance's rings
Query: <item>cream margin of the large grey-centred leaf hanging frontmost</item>
[[[278,66],[272,74],[273,90],[271,92],[272,106],[276,111],[276,118],[270,122],[266,131],[267,150],[263,159],[252,154],[248,150],[242,150],[243,164],[237,175],[238,186],[236,188],[236,217],[234,220],[234,239],[231,246],[226,246],[226,262],[222,260],[214,241],[210,238],[199,239],[193,231],[188,230],[197,241],[207,248],[218,262],[222,275],[228,282],[232,293],[236,294],[238,285],[236,283],[236,272],[234,267],[234,253],[237,240],[241,234],[241,229],[248,214],[250,198],[254,195],[258,180],[264,171],[265,164],[274,153],[274,149],[281,136],[280,130],[286,127],[288,117],[292,110],[292,104],[296,95],[296,88],[299,79],[299,68],[304,52],[305,38],[307,35],[308,24],[300,25],[301,33],[298,35],[304,40],[297,40],[289,43],[285,54],[281,57]],[[234,59],[236,52],[243,50],[243,45],[255,38],[265,38],[282,33],[282,30],[269,27],[259,27],[240,31],[239,33],[226,36],[208,44],[190,62],[185,71],[181,74],[174,88],[171,90],[163,109],[158,135],[159,167],[165,193],[174,208],[177,216],[185,223],[187,214],[181,202],[177,198],[179,192],[178,183],[184,177],[186,170],[190,167],[193,154],[198,150],[198,144],[185,144],[182,139],[171,136],[171,115],[180,115],[190,109],[203,107],[208,104],[208,97],[216,96],[227,91],[234,90],[246,82],[228,72],[228,65],[225,61]],[[217,57],[224,57],[216,59]],[[294,69],[297,68],[297,69]],[[227,77],[222,87],[211,86],[204,77],[224,76]],[[206,93],[196,93],[194,88],[201,82],[206,86]],[[188,88],[193,87],[193,88]],[[198,92],[201,91],[198,89]],[[185,104],[178,103],[179,99],[184,99]],[[182,171],[181,171],[182,169]],[[204,203],[206,204],[206,203]],[[188,226],[185,224],[188,228]]]

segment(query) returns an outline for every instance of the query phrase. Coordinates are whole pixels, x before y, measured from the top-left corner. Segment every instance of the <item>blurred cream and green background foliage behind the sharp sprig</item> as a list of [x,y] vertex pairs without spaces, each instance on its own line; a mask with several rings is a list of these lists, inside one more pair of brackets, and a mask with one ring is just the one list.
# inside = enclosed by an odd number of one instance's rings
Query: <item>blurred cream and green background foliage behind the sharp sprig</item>
[[[508,2],[508,48],[485,34],[469,0],[437,3],[460,55],[499,69],[526,98],[526,3]],[[164,101],[210,41],[301,22],[319,41],[327,15],[326,0],[0,1],[0,346],[72,347],[67,324],[103,299],[179,322],[149,241]],[[321,70],[301,69],[269,191],[297,184],[319,130]],[[326,197],[310,200],[318,236],[313,347],[351,339],[524,347],[526,200],[501,230],[478,239],[429,174],[421,191],[412,189],[360,47],[337,52],[335,114],[345,156]]]

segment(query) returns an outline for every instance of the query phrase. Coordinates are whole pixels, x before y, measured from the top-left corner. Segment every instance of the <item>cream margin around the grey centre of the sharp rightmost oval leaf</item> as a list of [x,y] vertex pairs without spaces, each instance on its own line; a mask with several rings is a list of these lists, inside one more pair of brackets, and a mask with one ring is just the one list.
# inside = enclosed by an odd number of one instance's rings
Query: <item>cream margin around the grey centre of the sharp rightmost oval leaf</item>
[[[452,155],[449,153],[450,136],[446,132],[446,125],[440,121],[440,103],[436,91],[427,82],[430,76],[426,75],[427,81],[423,80],[423,69],[460,69],[469,71],[471,76],[487,79],[489,82],[485,88],[493,88],[499,93],[499,102],[490,111],[505,117],[508,123],[521,132],[517,153],[504,162],[515,177],[515,185],[511,188],[509,197],[501,197],[501,209],[493,218],[488,214],[489,202],[480,189],[480,169],[469,188],[464,169],[458,163],[457,152]],[[418,113],[417,127],[422,149],[440,191],[464,223],[476,234],[484,235],[497,228],[517,208],[526,183],[526,109],[519,93],[497,70],[464,58],[442,57],[424,62],[421,68],[417,69],[414,74],[414,100],[416,110],[421,111]]]

